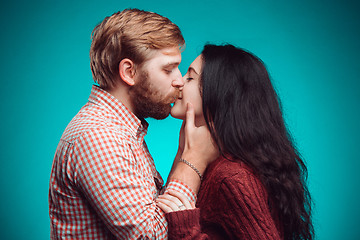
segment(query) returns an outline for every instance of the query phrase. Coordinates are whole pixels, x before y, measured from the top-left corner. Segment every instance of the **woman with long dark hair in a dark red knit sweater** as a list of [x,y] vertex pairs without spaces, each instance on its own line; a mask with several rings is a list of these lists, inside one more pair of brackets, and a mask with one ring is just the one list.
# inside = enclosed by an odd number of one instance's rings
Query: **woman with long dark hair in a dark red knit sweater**
[[157,199],[169,239],[312,239],[307,169],[261,60],[206,45],[184,78],[171,114],[185,119],[191,103],[221,156],[199,173],[196,208],[176,192]]

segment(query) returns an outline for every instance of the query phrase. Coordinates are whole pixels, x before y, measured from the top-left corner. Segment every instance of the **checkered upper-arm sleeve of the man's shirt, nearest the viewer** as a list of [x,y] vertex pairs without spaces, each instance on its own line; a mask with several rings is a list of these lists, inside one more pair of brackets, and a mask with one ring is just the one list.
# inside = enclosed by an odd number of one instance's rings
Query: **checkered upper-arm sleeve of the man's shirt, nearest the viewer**
[[118,239],[166,239],[167,222],[157,193],[130,145],[114,132],[95,129],[74,147],[75,184]]

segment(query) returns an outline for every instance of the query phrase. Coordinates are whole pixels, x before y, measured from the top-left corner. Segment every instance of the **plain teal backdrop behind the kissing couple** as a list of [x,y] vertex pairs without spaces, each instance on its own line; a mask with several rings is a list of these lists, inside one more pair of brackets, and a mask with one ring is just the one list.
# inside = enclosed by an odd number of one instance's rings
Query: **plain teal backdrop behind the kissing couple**
[[[314,0],[2,1],[1,239],[49,239],[52,159],[90,93],[91,31],[127,7],[179,25],[187,42],[183,73],[207,41],[258,55],[309,168],[317,239],[360,239],[360,7]],[[166,179],[181,123],[149,122],[147,142]]]

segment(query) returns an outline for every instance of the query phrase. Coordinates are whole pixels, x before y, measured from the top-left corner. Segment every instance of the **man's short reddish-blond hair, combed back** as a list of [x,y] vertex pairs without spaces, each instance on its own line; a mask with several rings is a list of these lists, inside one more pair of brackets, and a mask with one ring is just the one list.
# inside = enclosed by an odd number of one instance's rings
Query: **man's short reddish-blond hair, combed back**
[[100,87],[113,88],[124,58],[135,65],[148,60],[149,49],[181,48],[185,40],[177,25],[157,13],[125,9],[106,17],[92,32],[90,66]]

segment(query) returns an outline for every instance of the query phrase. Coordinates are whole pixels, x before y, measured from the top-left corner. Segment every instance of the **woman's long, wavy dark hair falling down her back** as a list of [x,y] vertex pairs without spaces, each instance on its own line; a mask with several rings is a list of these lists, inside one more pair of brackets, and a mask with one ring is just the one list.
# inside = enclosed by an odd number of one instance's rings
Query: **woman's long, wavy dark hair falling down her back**
[[312,239],[307,168],[286,129],[264,64],[232,45],[206,45],[202,56],[204,117],[221,153],[258,174],[284,239]]

